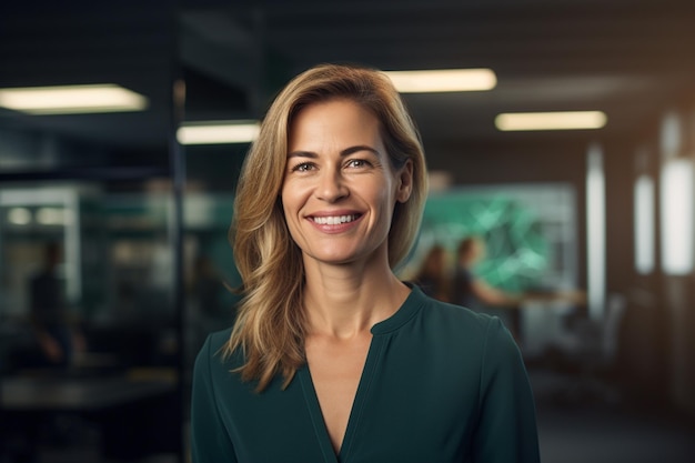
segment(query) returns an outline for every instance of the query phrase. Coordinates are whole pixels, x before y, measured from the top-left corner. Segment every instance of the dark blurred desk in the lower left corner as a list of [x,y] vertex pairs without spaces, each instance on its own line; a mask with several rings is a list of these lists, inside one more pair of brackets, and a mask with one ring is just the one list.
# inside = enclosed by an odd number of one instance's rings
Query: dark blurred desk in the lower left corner
[[75,413],[95,422],[107,457],[133,459],[177,452],[181,437],[180,397],[171,380],[128,376],[14,376],[0,383],[0,404],[11,429],[30,440],[54,413]]

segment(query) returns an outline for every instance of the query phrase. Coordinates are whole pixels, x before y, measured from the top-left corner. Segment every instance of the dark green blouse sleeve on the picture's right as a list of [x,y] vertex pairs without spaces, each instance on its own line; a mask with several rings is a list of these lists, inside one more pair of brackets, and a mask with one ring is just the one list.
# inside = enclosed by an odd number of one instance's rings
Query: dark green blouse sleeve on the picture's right
[[481,372],[476,463],[540,462],[535,404],[521,352],[500,319],[487,326]]

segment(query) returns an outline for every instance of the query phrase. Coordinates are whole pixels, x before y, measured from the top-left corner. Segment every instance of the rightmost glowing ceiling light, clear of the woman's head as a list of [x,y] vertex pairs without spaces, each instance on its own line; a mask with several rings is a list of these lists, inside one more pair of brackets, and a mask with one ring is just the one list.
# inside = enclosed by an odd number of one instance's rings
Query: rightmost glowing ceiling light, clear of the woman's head
[[506,112],[495,118],[502,131],[601,129],[606,122],[603,111]]

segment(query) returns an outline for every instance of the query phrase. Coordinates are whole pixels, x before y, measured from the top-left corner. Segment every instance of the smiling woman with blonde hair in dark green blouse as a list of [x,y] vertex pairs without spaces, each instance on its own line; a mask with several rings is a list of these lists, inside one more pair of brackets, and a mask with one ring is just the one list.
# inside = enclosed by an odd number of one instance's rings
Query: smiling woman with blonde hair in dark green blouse
[[425,194],[384,74],[320,66],[278,95],[236,190],[244,299],[195,362],[193,462],[538,460],[508,332],[393,273]]

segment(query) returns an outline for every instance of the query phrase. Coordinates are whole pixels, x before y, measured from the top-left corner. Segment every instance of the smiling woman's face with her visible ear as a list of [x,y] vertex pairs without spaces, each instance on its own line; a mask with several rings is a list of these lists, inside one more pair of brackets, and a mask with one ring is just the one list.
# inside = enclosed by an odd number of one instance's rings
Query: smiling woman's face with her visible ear
[[379,120],[357,103],[314,103],[295,115],[282,204],[306,264],[387,259],[393,209],[411,185],[412,164],[393,171]]

